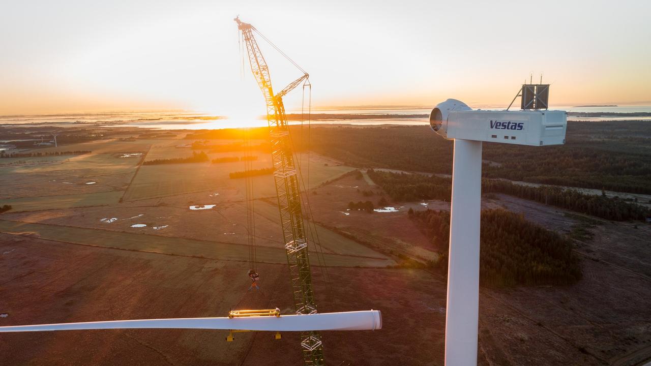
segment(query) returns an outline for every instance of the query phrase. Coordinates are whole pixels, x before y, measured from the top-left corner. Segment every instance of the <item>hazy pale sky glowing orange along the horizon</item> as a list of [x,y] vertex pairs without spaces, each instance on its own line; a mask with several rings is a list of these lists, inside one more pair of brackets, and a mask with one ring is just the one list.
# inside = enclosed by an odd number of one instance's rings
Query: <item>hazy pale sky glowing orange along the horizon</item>
[[[503,106],[531,72],[551,104],[651,104],[649,1],[21,0],[0,12],[0,115],[262,114],[238,14],[310,73],[314,106]],[[300,76],[260,44],[277,91]]]

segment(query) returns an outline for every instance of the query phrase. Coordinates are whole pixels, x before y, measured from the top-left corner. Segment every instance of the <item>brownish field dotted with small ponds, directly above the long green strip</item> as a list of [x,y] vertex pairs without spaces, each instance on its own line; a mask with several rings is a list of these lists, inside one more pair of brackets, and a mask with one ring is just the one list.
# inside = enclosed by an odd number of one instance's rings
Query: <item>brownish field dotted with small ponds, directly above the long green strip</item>
[[[196,195],[199,196],[199,195]],[[201,197],[208,197],[202,194]],[[187,197],[189,198],[189,197]],[[204,198],[205,199],[205,198]],[[182,203],[168,201],[165,206],[130,204],[111,204],[101,207],[83,207],[68,210],[41,210],[37,212],[16,212],[5,214],[5,218],[25,223],[42,223],[62,227],[80,227],[101,231],[155,234],[173,238],[215,241],[229,244],[247,244],[245,205],[230,202],[227,194],[208,197],[204,203],[215,204],[210,210],[189,210]],[[198,203],[199,198],[195,199]],[[283,249],[280,238],[279,215],[275,204],[256,201],[256,245]],[[110,219],[110,221],[107,221]],[[145,224],[146,227],[132,227]],[[324,253],[353,255],[376,259],[387,259],[374,251],[336,232],[316,225],[316,233],[322,243]],[[308,232],[312,238],[312,231]],[[312,242],[312,240],[311,240]],[[312,251],[320,250],[312,246]],[[316,259],[315,259],[316,260]],[[318,261],[321,259],[318,258]],[[326,262],[329,265],[328,262]]]

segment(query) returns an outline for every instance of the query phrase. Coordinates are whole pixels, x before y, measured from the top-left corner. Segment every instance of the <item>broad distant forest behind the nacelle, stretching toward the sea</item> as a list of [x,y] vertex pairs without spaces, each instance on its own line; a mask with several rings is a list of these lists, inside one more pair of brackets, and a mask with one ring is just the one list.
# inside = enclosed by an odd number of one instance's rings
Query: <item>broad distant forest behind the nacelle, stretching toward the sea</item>
[[[354,167],[452,173],[452,141],[428,126],[318,126],[309,135],[295,127],[292,138],[300,149],[309,141],[315,152]],[[486,178],[651,194],[646,121],[570,121],[566,145],[484,143],[483,158]]]

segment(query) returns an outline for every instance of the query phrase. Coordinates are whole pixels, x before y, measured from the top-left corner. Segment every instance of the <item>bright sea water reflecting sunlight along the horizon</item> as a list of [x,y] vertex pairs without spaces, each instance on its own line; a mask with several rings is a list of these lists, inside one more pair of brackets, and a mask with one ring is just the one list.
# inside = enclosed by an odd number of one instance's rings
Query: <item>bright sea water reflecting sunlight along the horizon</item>
[[[482,109],[503,110],[503,107],[485,107]],[[590,117],[569,115],[569,120],[651,120],[651,106],[556,106],[549,109],[560,109],[568,112],[591,113]],[[310,120],[292,120],[290,124],[355,124],[355,125],[378,125],[378,124],[402,124],[419,125],[428,124],[428,115],[431,107],[374,107],[355,109],[312,109],[312,114],[318,114],[319,118]],[[301,111],[289,111],[288,113],[301,113]],[[648,116],[630,115],[599,115],[599,113],[647,113]],[[327,115],[333,115],[328,119]],[[342,116],[345,115],[345,116]],[[368,118],[360,119],[368,115],[391,115],[389,118]],[[423,117],[414,118],[413,115]],[[404,116],[404,117],[403,117]],[[172,112],[110,112],[110,113],[83,113],[83,114],[61,114],[61,115],[10,115],[0,116],[0,126],[20,124],[40,124],[43,126],[102,126],[105,128],[115,127],[137,127],[152,128],[161,130],[214,130],[221,128],[256,127],[266,126],[263,119],[230,119],[229,117],[214,118],[214,115],[199,111],[172,111]]]

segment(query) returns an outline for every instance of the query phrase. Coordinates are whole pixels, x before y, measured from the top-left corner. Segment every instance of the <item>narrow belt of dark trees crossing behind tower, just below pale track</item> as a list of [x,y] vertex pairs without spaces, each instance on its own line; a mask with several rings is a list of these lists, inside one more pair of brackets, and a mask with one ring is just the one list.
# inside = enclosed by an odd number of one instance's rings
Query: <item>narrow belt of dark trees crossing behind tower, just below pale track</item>
[[[368,176],[396,201],[438,199],[450,201],[452,180],[422,174],[391,173],[368,169]],[[644,220],[651,210],[605,195],[588,195],[553,186],[524,186],[508,180],[482,178],[482,193],[505,193],[515,197],[550,204],[598,218],[626,221]]]

